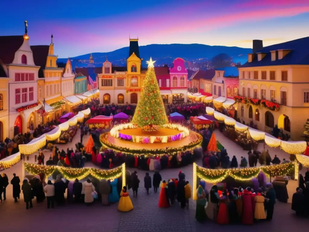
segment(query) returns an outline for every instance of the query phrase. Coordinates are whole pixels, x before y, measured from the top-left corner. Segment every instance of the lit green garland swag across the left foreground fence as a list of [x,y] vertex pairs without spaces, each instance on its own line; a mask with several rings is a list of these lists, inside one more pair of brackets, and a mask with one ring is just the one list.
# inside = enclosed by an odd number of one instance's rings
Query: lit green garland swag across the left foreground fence
[[89,175],[99,180],[113,180],[121,177],[122,175],[122,166],[110,170],[102,170],[98,168],[69,168],[62,166],[46,166],[29,162],[24,162],[23,164],[25,170],[30,174],[39,175],[40,173],[44,173],[46,176],[51,176],[55,171],[59,171],[62,176],[68,180],[75,180],[76,178],[81,180]]

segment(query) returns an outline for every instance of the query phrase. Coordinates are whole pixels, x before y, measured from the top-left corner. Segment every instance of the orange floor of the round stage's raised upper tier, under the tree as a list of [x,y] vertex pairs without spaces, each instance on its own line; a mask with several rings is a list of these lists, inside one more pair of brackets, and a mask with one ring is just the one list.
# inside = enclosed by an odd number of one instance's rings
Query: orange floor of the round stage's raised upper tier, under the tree
[[160,128],[157,131],[143,131],[142,128],[132,128],[120,130],[119,134],[133,135],[133,136],[171,136],[181,133],[178,130],[170,128]]

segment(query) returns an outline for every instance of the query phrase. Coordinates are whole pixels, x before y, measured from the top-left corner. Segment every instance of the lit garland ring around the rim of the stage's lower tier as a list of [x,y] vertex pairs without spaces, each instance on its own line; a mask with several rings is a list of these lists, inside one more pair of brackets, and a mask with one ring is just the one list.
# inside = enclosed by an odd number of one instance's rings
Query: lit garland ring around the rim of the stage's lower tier
[[197,134],[198,139],[194,142],[189,143],[188,145],[185,145],[183,147],[177,147],[177,148],[165,148],[165,149],[130,149],[130,148],[123,148],[120,146],[116,146],[115,144],[111,144],[107,141],[107,135],[109,132],[104,133],[100,135],[100,141],[103,145],[103,147],[112,149],[116,152],[122,152],[131,154],[134,156],[145,156],[145,157],[151,157],[151,156],[172,156],[175,154],[178,154],[179,152],[186,152],[189,150],[192,150],[194,147],[199,146],[203,140],[202,136],[200,134]]

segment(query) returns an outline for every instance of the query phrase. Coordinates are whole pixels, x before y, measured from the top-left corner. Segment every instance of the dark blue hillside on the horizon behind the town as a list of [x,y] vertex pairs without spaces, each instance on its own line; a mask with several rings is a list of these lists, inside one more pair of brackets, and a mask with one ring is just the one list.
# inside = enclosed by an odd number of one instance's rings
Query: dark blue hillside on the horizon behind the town
[[[187,61],[188,67],[202,68],[207,66],[211,58],[220,53],[228,54],[233,58],[233,62],[241,62],[243,64],[247,60],[247,54],[252,52],[252,49],[203,44],[151,44],[139,46],[139,51],[143,58],[142,66],[144,67],[146,67],[146,60],[151,56],[153,60],[157,61],[157,66],[163,66],[164,64],[170,66],[175,58],[180,57]],[[112,52],[92,53],[95,67],[102,67],[102,63],[106,60],[105,56],[113,65],[125,66],[128,55],[129,47]],[[86,67],[89,64],[89,57],[90,54],[72,57],[72,66]],[[67,58],[59,58],[57,62],[66,62],[66,60]]]

